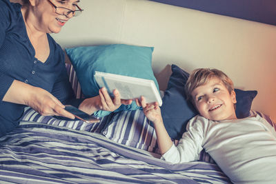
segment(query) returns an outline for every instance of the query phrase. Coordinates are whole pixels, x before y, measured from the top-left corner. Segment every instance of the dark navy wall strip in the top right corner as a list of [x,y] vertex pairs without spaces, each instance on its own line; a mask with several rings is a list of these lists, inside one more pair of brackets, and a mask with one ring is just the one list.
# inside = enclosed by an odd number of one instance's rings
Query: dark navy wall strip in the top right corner
[[249,21],[276,25],[275,0],[151,0]]

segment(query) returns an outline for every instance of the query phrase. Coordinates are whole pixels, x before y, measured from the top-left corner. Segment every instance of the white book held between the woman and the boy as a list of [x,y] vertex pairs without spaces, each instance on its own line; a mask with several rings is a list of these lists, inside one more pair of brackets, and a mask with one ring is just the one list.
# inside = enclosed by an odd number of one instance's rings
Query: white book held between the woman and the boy
[[117,89],[121,99],[139,99],[144,96],[147,103],[157,101],[159,106],[162,105],[160,93],[152,80],[97,71],[94,77],[99,87],[105,87],[111,96],[113,90]]

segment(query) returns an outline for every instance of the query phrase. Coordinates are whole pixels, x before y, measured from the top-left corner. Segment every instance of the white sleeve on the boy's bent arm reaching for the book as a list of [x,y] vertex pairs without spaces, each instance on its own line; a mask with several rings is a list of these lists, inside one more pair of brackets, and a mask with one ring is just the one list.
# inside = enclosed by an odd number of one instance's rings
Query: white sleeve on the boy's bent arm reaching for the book
[[161,159],[170,163],[185,163],[189,161],[197,161],[199,154],[203,149],[204,140],[204,121],[197,119],[195,116],[187,125],[187,132],[184,132],[177,146],[172,145],[170,149],[164,153]]

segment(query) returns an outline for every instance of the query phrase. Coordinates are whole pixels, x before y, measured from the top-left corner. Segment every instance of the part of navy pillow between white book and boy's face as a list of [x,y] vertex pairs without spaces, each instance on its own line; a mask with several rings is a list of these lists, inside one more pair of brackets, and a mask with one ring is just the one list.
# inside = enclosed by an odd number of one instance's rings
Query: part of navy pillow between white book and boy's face
[[188,77],[188,72],[172,65],[172,74],[161,106],[164,125],[172,139],[180,139],[186,132],[188,121],[197,114],[193,104],[186,100],[185,84]]

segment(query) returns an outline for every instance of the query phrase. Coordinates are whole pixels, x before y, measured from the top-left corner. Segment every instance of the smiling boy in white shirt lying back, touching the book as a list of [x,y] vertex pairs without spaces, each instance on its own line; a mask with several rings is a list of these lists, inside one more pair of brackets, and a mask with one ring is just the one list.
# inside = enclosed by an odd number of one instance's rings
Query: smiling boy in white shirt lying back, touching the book
[[161,159],[197,161],[205,149],[233,183],[276,183],[276,132],[259,115],[237,119],[228,76],[216,69],[194,70],[186,93],[199,115],[189,121],[177,146],[166,132],[157,103],[147,104],[141,96],[140,105],[155,125]]

